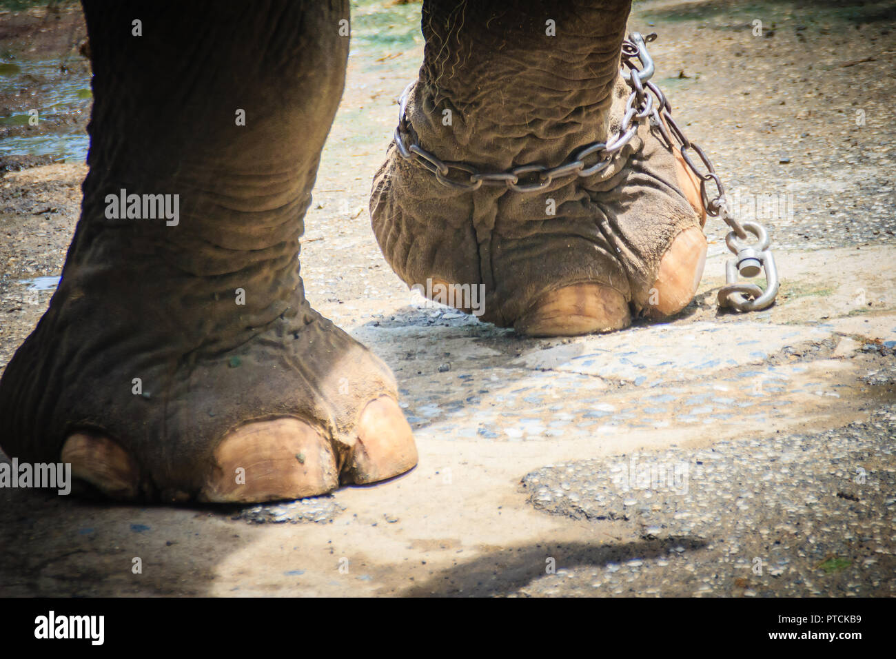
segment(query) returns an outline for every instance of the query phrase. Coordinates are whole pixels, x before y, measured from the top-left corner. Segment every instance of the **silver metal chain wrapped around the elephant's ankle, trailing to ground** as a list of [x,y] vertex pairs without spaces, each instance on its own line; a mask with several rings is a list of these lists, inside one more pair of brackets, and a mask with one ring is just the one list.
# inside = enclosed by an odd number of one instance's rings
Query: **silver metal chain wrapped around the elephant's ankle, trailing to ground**
[[[672,108],[666,96],[659,91],[655,83],[650,82],[655,69],[653,59],[647,52],[647,44],[656,38],[656,34],[642,37],[639,32],[633,32],[623,42],[621,74],[632,92],[625,101],[625,113],[619,131],[608,142],[592,142],[578,147],[556,167],[532,163],[505,171],[481,171],[466,162],[441,160],[418,143],[409,143],[410,123],[406,117],[406,110],[414,82],[405,88],[399,98],[395,146],[401,158],[427,169],[444,186],[468,192],[478,190],[481,186],[506,186],[513,192],[522,193],[538,192],[558,178],[590,177],[601,169],[606,169],[616,157],[616,153],[632,141],[638,132],[638,126],[650,122],[650,126],[659,130],[670,148],[678,143],[682,159],[697,178],[700,178],[700,195],[707,214],[719,217],[731,229],[725,238],[725,244],[736,257],[729,259],[725,266],[726,285],[719,290],[719,306],[735,308],[738,311],[759,311],[768,308],[774,302],[779,286],[778,270],[769,249],[768,233],[759,222],[741,223],[731,215],[725,197],[725,186],[716,174],[711,160],[700,146],[685,136],[684,131],[672,118]],[[640,67],[634,63],[635,58]],[[700,157],[706,168],[705,173],[702,173],[694,164],[694,160],[691,160],[688,152],[692,151]],[[590,161],[592,158],[593,162]],[[452,170],[461,174],[452,174]],[[710,182],[716,191],[716,195],[712,197],[707,186]],[[750,234],[756,238],[756,243],[752,246],[738,242],[747,240]],[[763,269],[766,279],[765,290],[754,283],[737,281],[738,273],[742,277],[753,278],[762,273]]]

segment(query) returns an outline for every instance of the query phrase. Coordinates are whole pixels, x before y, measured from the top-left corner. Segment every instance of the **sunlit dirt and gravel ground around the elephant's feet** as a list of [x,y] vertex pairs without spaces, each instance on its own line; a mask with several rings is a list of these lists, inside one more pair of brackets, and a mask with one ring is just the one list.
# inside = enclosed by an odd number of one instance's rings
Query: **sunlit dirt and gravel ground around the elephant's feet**
[[[352,5],[303,276],[392,367],[418,467],[250,508],[0,489],[0,594],[896,594],[892,3],[635,3],[674,116],[770,230],[780,295],[719,311],[728,251],[711,220],[679,316],[566,340],[428,307],[384,262],[367,198],[422,58],[419,6]],[[61,272],[90,107],[78,6],[4,6],[0,368],[47,307],[40,278]],[[60,88],[44,126],[16,118]],[[633,460],[687,465],[686,491],[620,490]]]

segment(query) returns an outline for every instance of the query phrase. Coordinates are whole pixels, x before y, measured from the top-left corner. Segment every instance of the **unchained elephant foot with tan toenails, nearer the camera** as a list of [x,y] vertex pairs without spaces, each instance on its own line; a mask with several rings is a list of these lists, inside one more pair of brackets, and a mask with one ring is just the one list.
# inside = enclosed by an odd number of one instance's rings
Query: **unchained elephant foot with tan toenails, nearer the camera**
[[178,336],[116,347],[137,328],[63,317],[73,305],[57,294],[0,383],[10,455],[71,464],[113,499],[164,502],[299,499],[417,464],[388,367],[306,305],[194,355]]

